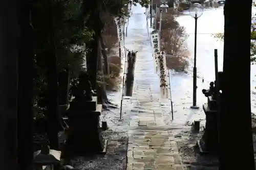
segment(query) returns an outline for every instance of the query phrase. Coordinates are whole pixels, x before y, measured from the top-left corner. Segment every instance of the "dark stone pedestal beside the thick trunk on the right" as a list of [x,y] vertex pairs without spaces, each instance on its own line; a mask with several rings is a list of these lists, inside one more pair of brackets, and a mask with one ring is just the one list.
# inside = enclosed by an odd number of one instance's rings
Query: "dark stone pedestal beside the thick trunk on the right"
[[[211,99],[208,99],[208,104],[203,105],[206,125],[202,138],[197,142],[201,153],[215,153],[218,151],[218,111],[209,108],[209,101]],[[211,106],[211,108],[214,108],[214,106]]]

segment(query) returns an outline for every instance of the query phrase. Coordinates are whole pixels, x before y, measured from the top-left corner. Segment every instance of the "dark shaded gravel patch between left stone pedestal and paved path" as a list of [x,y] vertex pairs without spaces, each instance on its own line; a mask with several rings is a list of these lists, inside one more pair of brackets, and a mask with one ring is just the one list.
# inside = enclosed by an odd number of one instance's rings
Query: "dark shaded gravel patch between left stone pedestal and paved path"
[[108,139],[106,154],[91,157],[76,157],[72,160],[75,168],[81,170],[125,170],[127,152],[127,134],[107,130],[102,132]]

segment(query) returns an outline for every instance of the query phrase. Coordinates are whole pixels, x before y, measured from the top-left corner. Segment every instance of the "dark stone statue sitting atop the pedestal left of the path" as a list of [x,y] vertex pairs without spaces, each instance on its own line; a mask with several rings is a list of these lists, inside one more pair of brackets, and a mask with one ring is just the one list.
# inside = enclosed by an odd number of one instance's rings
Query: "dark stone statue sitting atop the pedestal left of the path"
[[86,70],[79,72],[79,83],[75,89],[75,101],[92,101],[93,89]]

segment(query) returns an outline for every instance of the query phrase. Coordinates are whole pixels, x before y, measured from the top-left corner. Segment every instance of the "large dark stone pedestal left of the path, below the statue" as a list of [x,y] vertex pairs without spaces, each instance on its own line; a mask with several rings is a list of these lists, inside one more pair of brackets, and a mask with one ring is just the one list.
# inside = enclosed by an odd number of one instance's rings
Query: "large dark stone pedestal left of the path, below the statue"
[[91,102],[73,103],[69,109],[69,131],[63,157],[97,154],[103,151],[99,116],[102,105],[97,97]]

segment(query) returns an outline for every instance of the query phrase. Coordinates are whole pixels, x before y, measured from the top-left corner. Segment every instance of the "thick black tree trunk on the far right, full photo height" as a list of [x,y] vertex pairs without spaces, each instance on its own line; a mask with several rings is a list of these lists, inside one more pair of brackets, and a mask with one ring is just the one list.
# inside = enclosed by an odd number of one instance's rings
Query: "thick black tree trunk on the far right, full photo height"
[[[220,168],[254,170],[250,103],[252,1],[226,0]],[[239,10],[237,9],[239,7]]]

